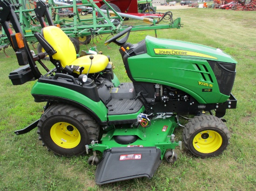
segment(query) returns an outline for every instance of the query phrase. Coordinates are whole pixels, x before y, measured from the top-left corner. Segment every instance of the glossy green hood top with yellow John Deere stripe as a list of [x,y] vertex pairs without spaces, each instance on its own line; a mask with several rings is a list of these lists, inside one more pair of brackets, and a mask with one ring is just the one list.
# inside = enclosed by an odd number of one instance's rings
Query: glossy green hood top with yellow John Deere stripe
[[146,37],[148,54],[151,57],[188,57],[214,60],[226,63],[237,63],[229,54],[220,49],[180,40]]

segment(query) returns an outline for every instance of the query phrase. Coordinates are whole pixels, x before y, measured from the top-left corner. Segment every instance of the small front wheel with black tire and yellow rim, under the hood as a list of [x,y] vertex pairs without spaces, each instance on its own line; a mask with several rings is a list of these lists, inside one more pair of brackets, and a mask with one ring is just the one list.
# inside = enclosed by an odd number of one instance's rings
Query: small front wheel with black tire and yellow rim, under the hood
[[228,127],[213,115],[190,119],[182,136],[186,149],[201,158],[220,155],[229,145],[230,139]]

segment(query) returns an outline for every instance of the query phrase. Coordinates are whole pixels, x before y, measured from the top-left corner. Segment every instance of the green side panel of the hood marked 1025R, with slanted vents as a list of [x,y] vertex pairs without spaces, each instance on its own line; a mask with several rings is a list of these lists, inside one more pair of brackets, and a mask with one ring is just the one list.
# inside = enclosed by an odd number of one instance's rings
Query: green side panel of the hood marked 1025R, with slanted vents
[[[229,98],[220,93],[206,60],[141,54],[129,57],[128,63],[131,75],[137,82],[159,83],[180,89],[201,104],[225,102]],[[204,89],[210,91],[203,92]]]

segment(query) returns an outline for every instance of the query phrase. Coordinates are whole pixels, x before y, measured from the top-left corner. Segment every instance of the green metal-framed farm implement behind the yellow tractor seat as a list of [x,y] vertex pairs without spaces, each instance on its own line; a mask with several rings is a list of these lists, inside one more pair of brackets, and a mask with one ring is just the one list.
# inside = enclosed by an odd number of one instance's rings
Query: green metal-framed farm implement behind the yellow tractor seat
[[[87,45],[91,39],[102,34],[116,34],[125,30],[128,26],[123,25],[123,18],[139,19],[146,22],[146,25],[133,25],[131,31],[144,31],[144,30],[156,30],[168,29],[168,28],[180,28],[181,19],[177,18],[173,20],[171,12],[154,14],[151,19],[147,17],[141,17],[131,14],[118,13],[116,7],[112,7],[108,2],[102,0],[105,9],[99,8],[93,0],[83,1],[83,5],[68,4],[61,2],[54,2],[49,0],[47,4],[43,1],[31,1],[31,0],[9,0],[15,7],[16,16],[20,22],[22,32],[25,35],[27,41],[34,46],[37,39],[34,37],[35,32],[40,32],[43,23],[36,18],[36,13],[40,16],[45,15],[46,11],[51,15],[47,20],[53,19],[53,24],[61,27],[76,47],[76,52],[79,52],[79,44]],[[63,13],[64,10],[71,10],[72,13]],[[92,16],[90,18],[81,18],[79,16],[79,9],[90,11]],[[36,12],[36,13],[35,13]],[[63,17],[67,15],[69,18]],[[164,24],[160,24],[161,21]],[[166,24],[168,22],[168,24]],[[48,25],[48,24],[47,24]],[[7,47],[9,47],[9,40],[2,31],[0,38],[0,49],[4,50],[7,55]],[[43,51],[40,44],[37,45],[38,51]]]

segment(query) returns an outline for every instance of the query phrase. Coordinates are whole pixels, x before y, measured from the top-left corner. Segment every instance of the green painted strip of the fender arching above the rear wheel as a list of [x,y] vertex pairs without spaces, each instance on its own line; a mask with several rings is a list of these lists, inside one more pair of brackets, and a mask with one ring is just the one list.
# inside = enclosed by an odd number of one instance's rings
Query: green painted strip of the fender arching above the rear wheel
[[101,119],[101,121],[107,121],[108,111],[102,102],[94,102],[88,97],[74,90],[53,84],[36,82],[31,90],[31,94],[62,97],[74,102],[78,102],[93,111],[95,115]]

